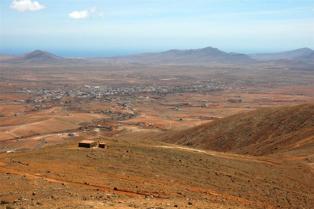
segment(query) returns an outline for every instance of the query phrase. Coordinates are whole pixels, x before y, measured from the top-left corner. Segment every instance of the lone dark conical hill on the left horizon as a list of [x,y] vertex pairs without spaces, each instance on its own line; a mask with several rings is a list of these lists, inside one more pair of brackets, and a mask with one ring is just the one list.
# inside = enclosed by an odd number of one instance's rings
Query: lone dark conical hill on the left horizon
[[11,65],[73,65],[81,62],[78,59],[65,59],[41,50],[35,50],[19,56],[1,55],[1,64]]

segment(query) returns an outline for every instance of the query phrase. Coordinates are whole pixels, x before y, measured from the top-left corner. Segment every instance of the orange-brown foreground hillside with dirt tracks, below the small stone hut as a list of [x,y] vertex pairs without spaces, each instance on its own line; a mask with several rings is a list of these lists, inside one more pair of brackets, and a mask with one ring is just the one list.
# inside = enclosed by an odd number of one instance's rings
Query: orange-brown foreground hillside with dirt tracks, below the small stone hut
[[[0,208],[313,208],[313,155],[98,138],[0,155]],[[291,172],[293,171],[293,172]]]

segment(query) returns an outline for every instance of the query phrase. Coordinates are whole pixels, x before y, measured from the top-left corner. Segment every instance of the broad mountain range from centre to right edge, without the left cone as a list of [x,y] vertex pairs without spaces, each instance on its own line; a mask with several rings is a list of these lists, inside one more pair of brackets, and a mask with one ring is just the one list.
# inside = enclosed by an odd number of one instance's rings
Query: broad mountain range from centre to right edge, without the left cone
[[[272,59],[269,59],[272,57]],[[267,58],[267,59],[266,59]],[[149,52],[128,56],[115,56],[108,59],[126,61],[144,61],[159,63],[211,63],[211,64],[248,64],[258,67],[280,67],[290,69],[314,69],[313,50],[296,49],[277,53],[241,54],[223,52],[217,48],[176,50],[165,52]]]

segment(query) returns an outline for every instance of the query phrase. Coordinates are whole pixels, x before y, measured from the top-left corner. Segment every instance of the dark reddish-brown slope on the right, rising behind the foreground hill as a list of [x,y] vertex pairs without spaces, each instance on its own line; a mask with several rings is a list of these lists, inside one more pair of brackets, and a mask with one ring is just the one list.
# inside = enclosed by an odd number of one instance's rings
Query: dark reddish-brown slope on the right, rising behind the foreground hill
[[155,138],[167,143],[249,155],[314,149],[314,105],[259,109]]

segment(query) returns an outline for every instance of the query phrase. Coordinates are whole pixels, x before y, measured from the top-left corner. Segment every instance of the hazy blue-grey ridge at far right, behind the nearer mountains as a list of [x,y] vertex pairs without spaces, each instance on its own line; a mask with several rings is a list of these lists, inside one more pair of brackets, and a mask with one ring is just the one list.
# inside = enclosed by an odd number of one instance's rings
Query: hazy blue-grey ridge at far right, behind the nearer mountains
[[248,54],[250,58],[257,60],[275,60],[275,59],[297,59],[307,60],[314,59],[314,51],[310,48],[295,49],[286,52],[275,52],[275,53],[253,53]]

